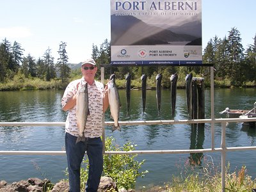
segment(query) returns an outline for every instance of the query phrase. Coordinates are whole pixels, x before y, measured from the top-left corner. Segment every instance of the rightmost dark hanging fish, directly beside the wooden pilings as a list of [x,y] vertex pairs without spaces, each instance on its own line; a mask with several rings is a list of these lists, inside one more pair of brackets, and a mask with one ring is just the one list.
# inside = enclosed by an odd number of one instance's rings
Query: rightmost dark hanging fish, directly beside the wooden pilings
[[189,119],[192,118],[192,79],[193,79],[193,74],[187,74],[186,75],[186,102],[187,102],[187,110],[188,110],[188,115]]

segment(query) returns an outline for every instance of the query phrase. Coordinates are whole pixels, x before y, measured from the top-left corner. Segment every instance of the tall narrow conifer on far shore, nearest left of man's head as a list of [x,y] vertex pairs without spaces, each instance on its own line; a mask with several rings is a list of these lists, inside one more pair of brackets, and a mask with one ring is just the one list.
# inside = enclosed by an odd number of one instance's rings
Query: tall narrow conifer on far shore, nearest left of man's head
[[61,42],[60,49],[58,51],[60,58],[58,58],[57,68],[58,68],[58,71],[60,72],[60,77],[61,77],[62,83],[65,80],[67,80],[67,78],[70,76],[70,71],[71,71],[71,69],[67,65],[68,56],[67,56],[67,52],[66,52],[66,46],[67,46],[67,43]]

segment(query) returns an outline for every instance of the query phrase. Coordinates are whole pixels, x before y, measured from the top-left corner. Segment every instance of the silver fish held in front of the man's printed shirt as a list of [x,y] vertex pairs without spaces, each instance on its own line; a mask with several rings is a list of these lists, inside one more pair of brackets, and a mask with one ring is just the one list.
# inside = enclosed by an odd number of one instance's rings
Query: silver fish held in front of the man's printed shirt
[[85,141],[84,129],[87,121],[87,116],[90,115],[89,111],[89,99],[88,99],[88,83],[79,84],[76,98],[76,118],[78,134],[76,143],[79,141]]

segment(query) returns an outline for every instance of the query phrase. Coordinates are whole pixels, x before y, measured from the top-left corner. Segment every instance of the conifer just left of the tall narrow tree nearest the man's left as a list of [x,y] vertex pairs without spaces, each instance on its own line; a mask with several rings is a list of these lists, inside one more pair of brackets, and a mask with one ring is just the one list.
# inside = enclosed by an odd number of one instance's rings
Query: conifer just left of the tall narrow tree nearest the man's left
[[50,81],[54,77],[56,77],[55,66],[54,66],[54,57],[51,56],[51,49],[45,51],[43,60],[46,67],[46,81]]

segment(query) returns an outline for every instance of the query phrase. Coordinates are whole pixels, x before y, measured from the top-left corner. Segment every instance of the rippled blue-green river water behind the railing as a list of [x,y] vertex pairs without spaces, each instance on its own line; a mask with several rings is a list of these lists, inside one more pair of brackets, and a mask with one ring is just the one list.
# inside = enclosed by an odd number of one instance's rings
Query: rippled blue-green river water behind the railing
[[[142,116],[141,91],[131,91],[131,111],[126,113],[125,90],[120,90],[122,108],[120,120],[170,120],[170,90],[163,90],[160,115],[157,115],[156,90],[147,90],[145,115]],[[214,90],[215,117],[219,111],[230,109],[252,109],[256,89]],[[62,91],[0,92],[0,122],[65,122],[67,113],[61,110]],[[106,121],[109,110],[106,112]],[[187,119],[185,90],[177,90],[175,120]],[[205,90],[205,118],[211,118],[210,91]],[[122,126],[122,131],[112,132],[106,127],[106,136],[113,136],[118,145],[127,141],[136,144],[136,150],[175,150],[211,148],[211,125],[204,129],[192,129],[191,125],[136,125]],[[64,150],[65,128],[61,127],[0,127],[0,150]],[[227,147],[254,146],[255,129],[230,123],[226,130]],[[215,125],[214,147],[220,147],[221,125]],[[227,161],[232,169],[246,165],[248,174],[256,176],[256,152],[228,152]],[[213,159],[220,166],[220,153],[196,154],[196,157]],[[142,170],[148,170],[145,178],[138,179],[136,186],[161,185],[180,173],[180,167],[195,160],[190,154],[141,154],[136,160],[146,159]],[[200,161],[204,165],[204,159]],[[0,180],[14,182],[38,177],[52,182],[64,179],[67,168],[66,156],[0,156]]]

